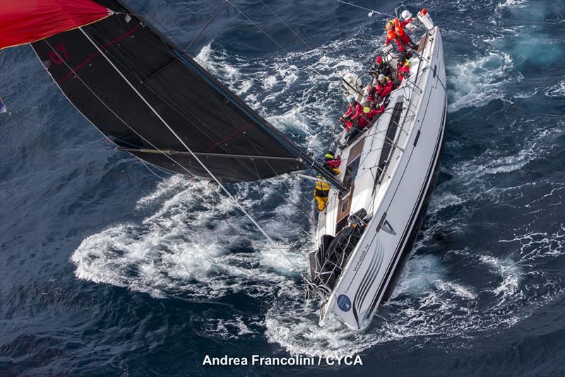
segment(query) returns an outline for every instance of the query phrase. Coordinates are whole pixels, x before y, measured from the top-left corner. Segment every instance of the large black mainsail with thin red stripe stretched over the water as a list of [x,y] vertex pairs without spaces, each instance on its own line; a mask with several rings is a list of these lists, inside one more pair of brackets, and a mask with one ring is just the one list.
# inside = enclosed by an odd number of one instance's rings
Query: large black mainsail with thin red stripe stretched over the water
[[71,103],[121,149],[208,177],[188,146],[222,182],[305,168],[292,141],[194,59],[121,2],[97,2],[117,14],[32,47]]

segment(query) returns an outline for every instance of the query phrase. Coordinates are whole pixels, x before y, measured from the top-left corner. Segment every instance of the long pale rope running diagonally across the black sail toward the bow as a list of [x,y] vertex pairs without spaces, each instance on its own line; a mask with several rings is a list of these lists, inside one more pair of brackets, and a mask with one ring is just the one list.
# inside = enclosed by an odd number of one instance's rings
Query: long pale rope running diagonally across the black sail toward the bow
[[[204,165],[204,163],[201,161],[200,158],[198,158],[198,156],[196,156],[191,149],[189,148],[188,145],[186,145],[186,143],[177,135],[176,132],[174,132],[174,129],[172,129],[169,124],[161,117],[161,115],[157,112],[157,110],[155,110],[150,103],[148,103],[147,100],[145,100],[145,98],[143,97],[143,95],[141,95],[141,93],[139,93],[137,91],[137,89],[128,81],[128,79],[126,79],[126,77],[124,76],[124,74],[121,73],[121,71],[119,71],[119,69],[117,69],[117,67],[112,63],[112,61],[110,59],[108,59],[108,57],[106,56],[106,54],[104,52],[102,52],[102,50],[100,50],[100,47],[98,47],[98,45],[95,44],[95,42],[90,39],[90,36],[85,33],[85,31],[83,30],[83,28],[78,28],[78,30],[81,30],[81,32],[83,33],[83,35],[85,35],[85,37],[96,47],[96,49],[100,52],[100,54],[102,54],[103,57],[105,57],[105,59],[109,62],[110,65],[112,65],[112,67],[114,67],[114,69],[117,71],[117,73],[126,81],[126,83],[129,84],[129,86],[133,89],[134,92],[137,93],[137,95],[139,96],[139,98],[141,98],[141,100],[143,100],[143,102],[148,105],[148,107],[150,108],[150,110],[159,118],[159,120],[161,120],[161,122],[163,124],[165,124],[165,127],[167,127],[167,129],[169,129],[169,131],[174,135],[174,137],[177,137],[177,139],[181,142],[181,144],[184,146],[184,148],[186,148],[187,151],[189,151],[193,158],[198,161],[198,163],[204,168],[204,170],[206,170],[206,173],[208,173],[208,175],[210,175],[210,177],[213,178],[213,180],[215,180],[218,185],[222,188],[222,190],[227,194],[228,197],[230,197],[230,199],[232,199],[234,201],[234,203],[237,205],[237,207],[249,218],[249,220],[251,220],[251,222],[256,226],[256,228],[258,228],[258,230],[263,233],[263,236],[265,236],[270,243],[273,244],[273,246],[276,248],[276,243],[275,241],[270,238],[270,236],[268,236],[268,234],[263,230],[263,228],[255,221],[255,219],[253,219],[253,217],[251,217],[251,215],[244,209],[244,207],[242,207],[242,204],[239,204],[239,202],[237,201],[237,199],[235,199],[235,197],[231,194],[231,192],[229,192],[224,185],[222,185],[222,182],[220,182],[220,180],[218,180],[218,178],[215,177],[215,175],[206,167],[206,165]],[[302,278],[304,279],[305,282],[309,282],[309,279],[306,277],[306,275],[304,275],[302,273],[302,271],[300,271],[300,269],[297,267],[297,265],[295,265],[294,262],[292,262],[292,260],[290,260],[290,257],[288,257],[283,250],[280,250],[281,255],[283,255],[286,260],[288,262],[290,262],[290,265],[292,265],[292,267],[294,267],[297,272],[302,276]]]

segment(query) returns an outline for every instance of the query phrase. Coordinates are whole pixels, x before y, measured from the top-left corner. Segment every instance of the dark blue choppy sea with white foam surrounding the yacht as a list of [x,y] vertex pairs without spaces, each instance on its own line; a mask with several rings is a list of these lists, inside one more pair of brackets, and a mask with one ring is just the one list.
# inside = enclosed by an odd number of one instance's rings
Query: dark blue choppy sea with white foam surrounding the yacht
[[[129,3],[186,46],[220,1]],[[192,53],[320,151],[340,107],[326,78],[369,64],[383,18],[270,1],[309,48],[259,1],[235,4],[288,52],[227,6]],[[444,161],[400,284],[362,332],[318,327],[297,274],[217,187],[158,178],[114,151],[30,47],[2,51],[13,115],[0,117],[0,375],[563,375],[565,5],[426,5],[446,52]],[[275,188],[301,204],[311,195],[291,177],[230,186],[306,270],[312,222]],[[206,354],[359,354],[364,365],[210,368]]]

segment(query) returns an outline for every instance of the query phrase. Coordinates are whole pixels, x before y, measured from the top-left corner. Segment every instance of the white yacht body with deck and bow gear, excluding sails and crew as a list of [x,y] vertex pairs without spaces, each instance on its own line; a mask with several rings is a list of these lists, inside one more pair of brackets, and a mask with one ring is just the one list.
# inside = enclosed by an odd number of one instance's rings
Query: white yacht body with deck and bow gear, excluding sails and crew
[[[424,33],[410,76],[369,131],[340,153],[339,177],[350,190],[334,190],[319,217],[310,291],[322,301],[320,325],[332,314],[355,330],[367,325],[393,292],[435,187],[447,114],[444,50],[427,10],[418,18]],[[390,45],[383,54],[396,66]],[[347,84],[354,94],[361,90],[355,81]]]

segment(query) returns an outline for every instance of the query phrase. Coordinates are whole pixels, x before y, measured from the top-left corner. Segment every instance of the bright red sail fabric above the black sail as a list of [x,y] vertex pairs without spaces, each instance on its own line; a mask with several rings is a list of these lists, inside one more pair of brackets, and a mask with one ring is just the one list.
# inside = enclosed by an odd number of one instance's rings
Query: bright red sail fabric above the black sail
[[79,28],[110,16],[90,0],[0,0],[0,50]]

